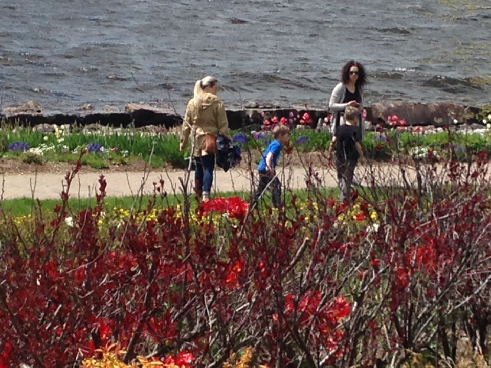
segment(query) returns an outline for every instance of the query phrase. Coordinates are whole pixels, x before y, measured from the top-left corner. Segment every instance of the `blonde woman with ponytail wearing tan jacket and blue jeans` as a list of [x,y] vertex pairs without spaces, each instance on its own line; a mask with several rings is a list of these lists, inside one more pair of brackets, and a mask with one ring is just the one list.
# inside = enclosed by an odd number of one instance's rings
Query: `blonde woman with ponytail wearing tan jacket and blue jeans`
[[[194,190],[199,199],[210,198],[215,169],[216,137],[221,134],[231,139],[224,103],[216,96],[218,79],[207,76],[196,81],[194,97],[189,100],[184,114],[179,149],[183,151],[191,141],[191,157],[195,163]],[[190,139],[191,138],[191,139]]]

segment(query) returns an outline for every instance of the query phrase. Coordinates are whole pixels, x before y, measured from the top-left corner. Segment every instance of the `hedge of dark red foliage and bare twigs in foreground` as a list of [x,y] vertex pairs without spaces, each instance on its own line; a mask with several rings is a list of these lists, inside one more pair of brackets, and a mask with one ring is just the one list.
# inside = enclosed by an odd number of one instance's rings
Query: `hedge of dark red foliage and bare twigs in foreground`
[[125,361],[143,354],[198,367],[244,347],[256,365],[281,367],[401,366],[414,353],[454,361],[456,331],[485,350],[485,167],[449,163],[439,176],[421,171],[424,186],[373,190],[370,203],[357,199],[363,225],[339,223],[347,205],[317,191],[250,216],[234,199],[240,226],[213,223],[207,212],[231,205],[215,200],[197,223],[163,208],[107,234],[103,177],[95,208],[63,227],[77,166],[51,223],[39,212],[26,236],[3,214],[0,367],[73,366],[114,341],[127,347]]

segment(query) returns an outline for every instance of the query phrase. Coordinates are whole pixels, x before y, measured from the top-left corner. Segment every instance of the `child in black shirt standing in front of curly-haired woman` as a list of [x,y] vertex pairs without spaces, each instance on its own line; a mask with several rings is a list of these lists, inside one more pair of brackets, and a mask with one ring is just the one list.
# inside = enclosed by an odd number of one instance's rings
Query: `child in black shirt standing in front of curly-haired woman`
[[360,112],[356,106],[347,106],[344,111],[345,124],[336,130],[329,146],[329,157],[334,144],[336,144],[336,170],[338,171],[338,185],[341,189],[339,199],[350,200],[351,184],[354,169],[358,159],[365,159],[363,155],[360,130],[357,126]]

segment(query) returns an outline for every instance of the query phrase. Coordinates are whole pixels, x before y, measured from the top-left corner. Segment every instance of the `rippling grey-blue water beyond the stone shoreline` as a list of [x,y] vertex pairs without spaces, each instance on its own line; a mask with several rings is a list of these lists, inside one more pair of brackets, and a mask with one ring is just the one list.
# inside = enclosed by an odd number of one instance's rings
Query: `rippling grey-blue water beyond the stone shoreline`
[[490,31],[486,0],[4,0],[0,90],[3,106],[170,96],[182,111],[212,74],[230,105],[325,106],[356,59],[368,102],[479,105],[491,92]]

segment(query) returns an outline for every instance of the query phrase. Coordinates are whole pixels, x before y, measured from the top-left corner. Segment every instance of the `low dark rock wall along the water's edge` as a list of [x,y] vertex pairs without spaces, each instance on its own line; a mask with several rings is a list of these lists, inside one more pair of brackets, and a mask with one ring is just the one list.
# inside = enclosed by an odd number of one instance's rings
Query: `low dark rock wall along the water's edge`
[[[489,111],[483,108],[465,106],[453,102],[405,103],[405,102],[377,102],[365,107],[366,120],[371,122],[370,127],[387,127],[390,122],[388,116],[396,115],[404,119],[407,126],[444,127],[450,125],[464,125],[466,127],[483,128]],[[265,117],[276,115],[278,118],[303,116],[308,112],[312,122],[308,125],[315,128],[322,125],[329,111],[323,108],[309,108],[305,105],[282,107],[275,104],[261,105],[258,102],[248,102],[244,107],[229,108],[227,117],[231,129],[257,130]],[[87,126],[100,124],[110,127],[136,127],[162,126],[167,129],[182,124],[182,116],[173,109],[147,103],[128,103],[124,111],[114,106],[105,106],[103,111],[95,111],[92,106],[86,105],[73,112],[59,112],[45,110],[36,101],[28,101],[21,105],[7,106],[0,112],[2,126],[37,126],[46,124],[74,124]]]

